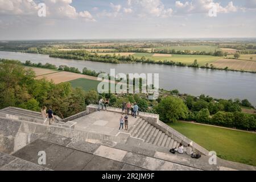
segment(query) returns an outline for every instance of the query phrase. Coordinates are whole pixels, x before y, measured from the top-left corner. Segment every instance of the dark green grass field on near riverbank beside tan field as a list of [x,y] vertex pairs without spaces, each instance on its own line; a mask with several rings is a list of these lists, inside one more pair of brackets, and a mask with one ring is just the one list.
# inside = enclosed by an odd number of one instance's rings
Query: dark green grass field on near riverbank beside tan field
[[[100,81],[97,80],[88,80],[86,78],[78,78],[76,80],[69,81],[73,88],[81,87],[86,92],[90,90],[96,90]],[[110,88],[110,85],[109,85]]]

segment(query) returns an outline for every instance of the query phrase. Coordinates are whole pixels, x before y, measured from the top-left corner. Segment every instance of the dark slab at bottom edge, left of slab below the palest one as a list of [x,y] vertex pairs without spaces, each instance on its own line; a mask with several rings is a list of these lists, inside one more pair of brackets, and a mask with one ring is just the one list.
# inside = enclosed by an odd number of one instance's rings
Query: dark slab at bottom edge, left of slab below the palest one
[[92,160],[94,155],[85,152],[73,151],[63,161],[61,161],[54,170],[57,171],[81,171],[86,164]]

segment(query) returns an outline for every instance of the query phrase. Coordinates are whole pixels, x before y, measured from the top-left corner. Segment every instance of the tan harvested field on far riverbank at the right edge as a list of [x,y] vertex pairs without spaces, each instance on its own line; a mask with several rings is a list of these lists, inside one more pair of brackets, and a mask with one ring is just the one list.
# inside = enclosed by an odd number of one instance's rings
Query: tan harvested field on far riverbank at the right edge
[[256,62],[255,61],[245,61],[237,59],[219,59],[212,63],[216,68],[225,68],[234,70],[243,70],[243,71],[256,71]]

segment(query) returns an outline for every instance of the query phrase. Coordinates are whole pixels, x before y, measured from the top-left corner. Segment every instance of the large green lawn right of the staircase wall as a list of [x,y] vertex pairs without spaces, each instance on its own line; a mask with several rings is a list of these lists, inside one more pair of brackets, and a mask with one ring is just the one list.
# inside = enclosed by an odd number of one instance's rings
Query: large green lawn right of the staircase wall
[[184,122],[168,125],[222,159],[256,166],[256,134]]

